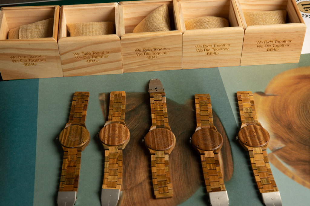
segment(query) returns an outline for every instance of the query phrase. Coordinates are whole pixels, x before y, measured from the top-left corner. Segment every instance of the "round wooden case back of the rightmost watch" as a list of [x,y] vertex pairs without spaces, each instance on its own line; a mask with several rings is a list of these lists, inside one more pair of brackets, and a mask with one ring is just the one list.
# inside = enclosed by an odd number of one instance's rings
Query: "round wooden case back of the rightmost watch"
[[250,147],[263,147],[269,142],[269,133],[258,125],[242,127],[238,133],[239,141]]

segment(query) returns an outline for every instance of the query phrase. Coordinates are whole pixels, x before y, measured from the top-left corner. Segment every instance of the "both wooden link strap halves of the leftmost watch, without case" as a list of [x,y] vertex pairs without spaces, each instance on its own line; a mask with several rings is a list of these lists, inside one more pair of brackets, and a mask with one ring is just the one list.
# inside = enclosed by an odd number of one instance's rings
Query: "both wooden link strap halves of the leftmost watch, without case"
[[[69,123],[85,126],[89,92],[74,92]],[[78,191],[82,148],[64,149],[59,191]]]

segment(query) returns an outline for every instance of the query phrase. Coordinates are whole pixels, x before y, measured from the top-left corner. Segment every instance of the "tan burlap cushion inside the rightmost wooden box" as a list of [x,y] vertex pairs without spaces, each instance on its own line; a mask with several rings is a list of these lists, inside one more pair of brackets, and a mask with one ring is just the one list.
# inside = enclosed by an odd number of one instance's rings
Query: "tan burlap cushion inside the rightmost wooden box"
[[247,26],[285,24],[286,10],[243,12]]

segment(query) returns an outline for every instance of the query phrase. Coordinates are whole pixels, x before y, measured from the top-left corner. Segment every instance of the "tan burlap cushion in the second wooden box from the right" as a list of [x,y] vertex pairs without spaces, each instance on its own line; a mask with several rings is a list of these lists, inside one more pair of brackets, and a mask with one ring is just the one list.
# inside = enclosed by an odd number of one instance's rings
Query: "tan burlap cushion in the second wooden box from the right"
[[217,16],[202,16],[184,22],[186,30],[228,27],[228,20]]

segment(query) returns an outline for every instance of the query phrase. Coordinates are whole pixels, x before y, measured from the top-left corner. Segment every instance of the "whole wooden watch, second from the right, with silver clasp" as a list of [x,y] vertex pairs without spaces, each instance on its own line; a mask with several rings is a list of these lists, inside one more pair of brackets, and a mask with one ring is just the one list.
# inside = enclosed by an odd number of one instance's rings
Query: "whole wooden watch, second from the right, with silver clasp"
[[194,149],[201,156],[201,165],[206,189],[212,206],[228,205],[228,195],[220,166],[222,135],[213,124],[209,94],[195,94],[197,127],[191,138]]

